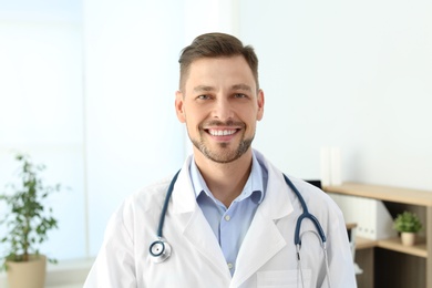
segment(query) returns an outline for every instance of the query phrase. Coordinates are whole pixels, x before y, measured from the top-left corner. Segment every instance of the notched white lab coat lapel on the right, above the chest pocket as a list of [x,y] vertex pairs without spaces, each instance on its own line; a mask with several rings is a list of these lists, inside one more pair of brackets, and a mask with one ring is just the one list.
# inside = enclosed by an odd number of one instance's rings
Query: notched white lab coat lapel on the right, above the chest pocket
[[230,287],[238,287],[280,251],[287,241],[275,220],[292,212],[289,191],[282,174],[268,168],[267,192],[258,206],[237,256],[236,271]]

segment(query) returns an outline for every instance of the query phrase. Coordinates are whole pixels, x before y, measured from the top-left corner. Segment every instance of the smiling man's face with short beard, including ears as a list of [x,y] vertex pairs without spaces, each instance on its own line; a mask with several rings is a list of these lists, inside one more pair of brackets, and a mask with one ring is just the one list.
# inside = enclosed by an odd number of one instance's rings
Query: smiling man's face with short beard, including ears
[[264,93],[241,55],[203,58],[191,64],[175,106],[195,153],[229,163],[250,148],[256,122],[263,119]]

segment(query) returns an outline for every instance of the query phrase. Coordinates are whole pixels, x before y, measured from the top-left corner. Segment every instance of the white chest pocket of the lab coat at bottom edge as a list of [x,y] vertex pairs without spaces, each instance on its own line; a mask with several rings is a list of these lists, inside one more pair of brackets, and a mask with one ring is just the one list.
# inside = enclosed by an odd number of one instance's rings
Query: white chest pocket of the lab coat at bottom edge
[[258,288],[309,288],[311,287],[311,270],[278,270],[257,272]]

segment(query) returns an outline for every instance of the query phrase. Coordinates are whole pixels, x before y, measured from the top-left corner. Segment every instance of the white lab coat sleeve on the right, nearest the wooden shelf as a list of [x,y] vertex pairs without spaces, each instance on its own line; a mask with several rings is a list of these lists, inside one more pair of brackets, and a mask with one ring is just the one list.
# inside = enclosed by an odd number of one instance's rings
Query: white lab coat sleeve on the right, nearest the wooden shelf
[[[346,223],[342,213],[336,205],[331,214],[330,232],[327,234],[331,287],[356,288],[356,272]],[[327,287],[326,281],[322,284],[323,287]]]

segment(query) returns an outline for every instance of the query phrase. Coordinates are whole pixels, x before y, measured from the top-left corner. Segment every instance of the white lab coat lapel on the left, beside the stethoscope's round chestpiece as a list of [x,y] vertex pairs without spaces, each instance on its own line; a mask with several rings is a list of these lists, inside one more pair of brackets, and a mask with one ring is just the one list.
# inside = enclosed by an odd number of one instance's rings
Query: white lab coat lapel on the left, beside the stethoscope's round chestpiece
[[195,194],[187,168],[178,175],[173,193],[173,212],[178,219],[178,227],[194,249],[206,258],[207,263],[219,270],[224,277],[230,278],[227,264],[207,219],[196,203]]

